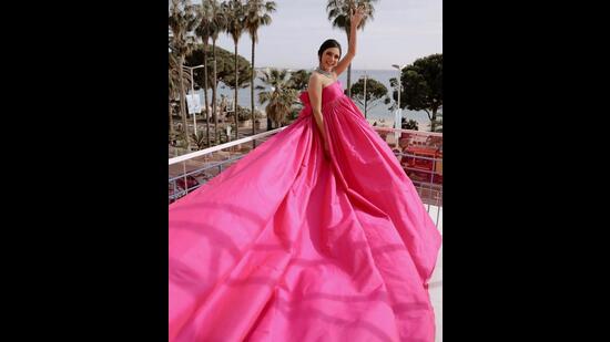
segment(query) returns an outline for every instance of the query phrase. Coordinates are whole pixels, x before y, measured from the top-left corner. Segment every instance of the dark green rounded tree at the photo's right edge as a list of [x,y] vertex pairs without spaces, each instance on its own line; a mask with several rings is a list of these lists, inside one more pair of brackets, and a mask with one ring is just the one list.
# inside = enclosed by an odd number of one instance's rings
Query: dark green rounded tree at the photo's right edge
[[[443,107],[443,54],[431,54],[416,60],[403,69],[400,107],[409,111],[425,111],[430,120],[430,131],[436,132],[437,113]],[[390,79],[396,85],[396,79]],[[398,91],[393,93],[398,100]]]

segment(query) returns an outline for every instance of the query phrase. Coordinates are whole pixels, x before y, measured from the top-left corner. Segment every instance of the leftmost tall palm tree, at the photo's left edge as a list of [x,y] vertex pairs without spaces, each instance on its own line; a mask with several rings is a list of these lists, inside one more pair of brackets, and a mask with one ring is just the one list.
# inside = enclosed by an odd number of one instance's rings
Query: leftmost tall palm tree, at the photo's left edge
[[177,73],[179,73],[179,87],[180,87],[180,113],[182,115],[182,125],[184,129],[184,138],[186,148],[190,148],[189,142],[189,126],[186,124],[186,112],[185,112],[185,92],[184,92],[184,76],[183,76],[183,65],[184,58],[192,50],[193,41],[190,41],[187,33],[193,31],[197,25],[199,18],[196,15],[196,8],[191,4],[189,0],[172,0],[170,6],[170,18],[169,25],[172,30],[172,46],[177,55]]

